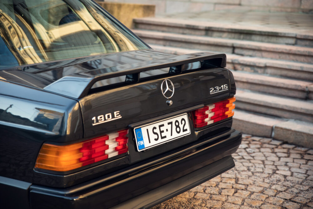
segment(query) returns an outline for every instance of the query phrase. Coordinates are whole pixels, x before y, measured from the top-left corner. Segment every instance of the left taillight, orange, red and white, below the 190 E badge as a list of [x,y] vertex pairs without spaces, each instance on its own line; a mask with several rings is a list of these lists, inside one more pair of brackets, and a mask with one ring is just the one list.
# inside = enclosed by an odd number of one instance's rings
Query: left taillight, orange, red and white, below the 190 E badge
[[70,145],[44,143],[35,168],[68,171],[126,153],[127,133],[128,129]]

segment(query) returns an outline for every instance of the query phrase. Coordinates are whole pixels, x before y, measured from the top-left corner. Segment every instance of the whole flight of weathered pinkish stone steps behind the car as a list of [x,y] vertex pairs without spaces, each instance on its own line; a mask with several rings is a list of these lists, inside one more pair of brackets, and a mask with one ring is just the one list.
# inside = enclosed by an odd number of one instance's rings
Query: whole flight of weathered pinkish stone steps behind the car
[[313,148],[313,33],[173,18],[134,25],[155,50],[225,53],[238,89],[233,126]]

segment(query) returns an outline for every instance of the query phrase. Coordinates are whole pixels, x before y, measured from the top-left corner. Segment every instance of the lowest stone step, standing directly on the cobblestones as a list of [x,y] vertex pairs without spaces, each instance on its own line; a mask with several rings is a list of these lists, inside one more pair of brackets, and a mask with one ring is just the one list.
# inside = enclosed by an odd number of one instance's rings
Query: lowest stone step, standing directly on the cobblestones
[[242,133],[313,148],[312,123],[268,117],[235,109],[233,128]]

